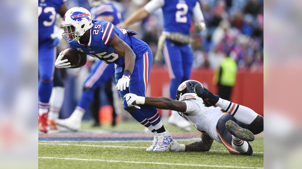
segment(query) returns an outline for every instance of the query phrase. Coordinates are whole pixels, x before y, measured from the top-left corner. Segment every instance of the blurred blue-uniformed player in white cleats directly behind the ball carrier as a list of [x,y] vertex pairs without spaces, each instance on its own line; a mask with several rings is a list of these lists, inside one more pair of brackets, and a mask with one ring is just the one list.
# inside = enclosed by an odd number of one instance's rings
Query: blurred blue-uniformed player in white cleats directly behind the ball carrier
[[[114,25],[120,23],[120,13],[115,6],[109,1],[88,1],[93,8],[90,10],[92,18],[97,20],[106,20]],[[88,78],[83,84],[82,96],[76,106],[76,109],[69,118],[57,119],[56,124],[69,128],[71,130],[79,130],[81,121],[85,111],[93,102],[95,90],[102,84],[114,76],[114,64],[107,64],[102,60],[95,58],[95,63]],[[110,100],[111,101],[111,100]],[[115,120],[115,119],[113,119]]]

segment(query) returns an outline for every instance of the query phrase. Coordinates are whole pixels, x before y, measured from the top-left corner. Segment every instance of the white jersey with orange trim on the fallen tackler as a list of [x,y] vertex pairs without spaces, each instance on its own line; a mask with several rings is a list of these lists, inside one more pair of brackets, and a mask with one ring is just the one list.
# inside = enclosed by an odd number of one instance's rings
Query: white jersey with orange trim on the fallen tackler
[[186,93],[179,100],[187,104],[187,110],[182,114],[191,121],[195,128],[200,132],[209,134],[212,139],[221,143],[216,125],[225,112],[216,106],[204,107],[203,100],[195,93]]

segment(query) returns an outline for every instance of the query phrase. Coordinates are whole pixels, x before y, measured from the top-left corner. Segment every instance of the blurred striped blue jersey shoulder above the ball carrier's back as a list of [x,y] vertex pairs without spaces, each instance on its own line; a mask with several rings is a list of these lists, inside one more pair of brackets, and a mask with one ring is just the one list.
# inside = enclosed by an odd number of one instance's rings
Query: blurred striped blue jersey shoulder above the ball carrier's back
[[96,19],[98,16],[112,15],[114,17],[114,20],[111,23],[117,25],[121,22],[120,12],[117,11],[112,3],[104,3],[98,7],[94,7],[91,9],[90,13],[92,15],[92,19]]

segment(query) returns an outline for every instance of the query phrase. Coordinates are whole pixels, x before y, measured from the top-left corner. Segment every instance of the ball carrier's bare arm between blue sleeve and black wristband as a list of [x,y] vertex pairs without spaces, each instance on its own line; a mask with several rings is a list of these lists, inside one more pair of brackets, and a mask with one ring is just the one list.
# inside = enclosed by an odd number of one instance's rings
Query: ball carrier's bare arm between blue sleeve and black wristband
[[111,46],[117,54],[125,58],[125,70],[129,70],[130,73],[132,73],[136,56],[130,46],[120,39],[117,34],[113,35],[109,41],[109,46]]

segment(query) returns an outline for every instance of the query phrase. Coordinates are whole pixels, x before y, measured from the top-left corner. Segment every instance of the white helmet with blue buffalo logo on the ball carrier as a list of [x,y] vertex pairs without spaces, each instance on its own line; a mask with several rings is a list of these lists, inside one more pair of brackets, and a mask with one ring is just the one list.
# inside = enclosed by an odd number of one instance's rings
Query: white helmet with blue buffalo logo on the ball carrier
[[[82,7],[71,8],[65,13],[61,26],[65,31],[62,36],[68,43],[78,41],[93,26],[91,14]],[[71,26],[75,28],[74,31]]]

